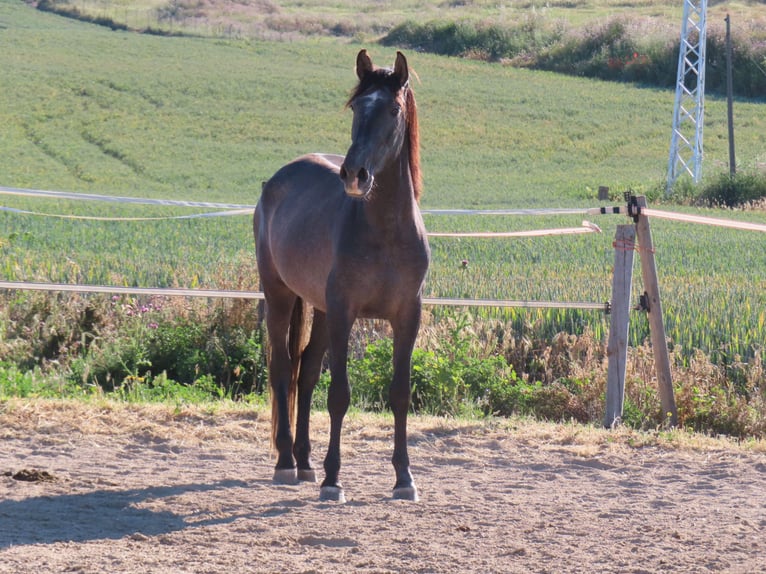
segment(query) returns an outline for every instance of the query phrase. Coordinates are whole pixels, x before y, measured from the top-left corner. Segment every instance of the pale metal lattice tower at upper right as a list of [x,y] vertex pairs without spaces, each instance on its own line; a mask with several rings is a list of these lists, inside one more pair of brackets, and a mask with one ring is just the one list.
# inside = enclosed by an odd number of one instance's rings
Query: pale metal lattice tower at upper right
[[682,174],[688,173],[697,183],[702,173],[706,14],[707,0],[684,0],[667,193]]

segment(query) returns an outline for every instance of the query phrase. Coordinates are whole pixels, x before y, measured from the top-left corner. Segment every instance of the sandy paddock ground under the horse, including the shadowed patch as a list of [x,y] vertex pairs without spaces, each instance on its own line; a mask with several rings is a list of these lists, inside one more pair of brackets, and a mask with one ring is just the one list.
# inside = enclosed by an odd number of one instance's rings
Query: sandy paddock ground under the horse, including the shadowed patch
[[763,444],[411,421],[420,502],[352,415],[338,504],[272,485],[265,411],[0,403],[0,572],[766,571]]

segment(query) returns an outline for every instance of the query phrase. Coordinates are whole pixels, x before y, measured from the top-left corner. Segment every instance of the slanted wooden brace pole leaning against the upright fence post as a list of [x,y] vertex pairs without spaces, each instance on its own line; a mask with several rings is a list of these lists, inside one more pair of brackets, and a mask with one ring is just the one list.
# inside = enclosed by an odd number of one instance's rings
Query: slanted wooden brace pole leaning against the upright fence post
[[[646,207],[646,197],[639,196],[636,201],[639,208]],[[640,212],[636,221],[636,236],[639,245],[639,259],[641,259],[641,275],[646,290],[645,302],[649,313],[654,370],[657,374],[662,412],[666,422],[670,426],[676,426],[678,424],[678,412],[673,396],[673,381],[670,376],[670,355],[668,342],[665,338],[665,325],[662,322],[660,286],[657,280],[657,266],[654,262],[654,243],[652,242],[652,232],[649,229],[649,218]]]

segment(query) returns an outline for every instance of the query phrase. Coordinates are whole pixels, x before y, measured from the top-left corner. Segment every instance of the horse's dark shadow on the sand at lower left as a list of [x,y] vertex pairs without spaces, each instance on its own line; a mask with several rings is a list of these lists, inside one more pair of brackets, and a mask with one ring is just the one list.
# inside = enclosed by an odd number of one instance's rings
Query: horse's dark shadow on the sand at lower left
[[[130,535],[156,536],[233,522],[242,515],[199,519],[138,506],[142,502],[190,492],[247,486],[241,480],[129,490],[96,490],[80,494],[0,500],[0,550],[27,544],[117,540]],[[193,521],[188,520],[193,518]]]

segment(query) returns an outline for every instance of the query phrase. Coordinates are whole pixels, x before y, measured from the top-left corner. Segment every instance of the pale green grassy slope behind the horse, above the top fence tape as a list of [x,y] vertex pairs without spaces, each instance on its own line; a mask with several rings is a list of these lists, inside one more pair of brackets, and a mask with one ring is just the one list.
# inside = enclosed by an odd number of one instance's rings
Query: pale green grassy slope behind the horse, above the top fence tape
[[[342,103],[361,46],[158,38],[0,6],[13,18],[0,94],[6,185],[253,202],[287,158],[348,144]],[[422,80],[426,207],[582,204],[598,185],[664,178],[670,92],[410,60]],[[737,107],[743,166],[766,162],[759,109]],[[711,171],[728,157],[725,117],[709,100]]]

